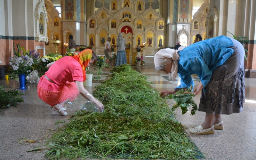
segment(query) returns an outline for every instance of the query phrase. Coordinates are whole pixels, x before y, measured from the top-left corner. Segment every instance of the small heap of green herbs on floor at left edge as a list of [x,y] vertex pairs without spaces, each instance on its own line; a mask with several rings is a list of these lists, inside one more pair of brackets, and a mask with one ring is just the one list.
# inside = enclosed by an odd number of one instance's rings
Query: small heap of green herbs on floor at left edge
[[9,87],[9,90],[5,90],[4,88],[8,87],[0,86],[0,109],[17,106],[18,102],[24,101],[20,97],[23,93],[19,92],[17,89],[12,90],[11,87]]

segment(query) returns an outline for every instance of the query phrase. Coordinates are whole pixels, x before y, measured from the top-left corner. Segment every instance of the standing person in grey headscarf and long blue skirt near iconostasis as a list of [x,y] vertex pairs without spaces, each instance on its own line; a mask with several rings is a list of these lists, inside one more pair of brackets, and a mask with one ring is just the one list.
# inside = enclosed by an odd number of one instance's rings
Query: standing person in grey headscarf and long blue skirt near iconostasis
[[117,47],[117,54],[116,54],[115,66],[126,64],[127,60],[126,60],[126,53],[125,53],[125,39],[123,38],[122,33],[118,34],[116,47]]

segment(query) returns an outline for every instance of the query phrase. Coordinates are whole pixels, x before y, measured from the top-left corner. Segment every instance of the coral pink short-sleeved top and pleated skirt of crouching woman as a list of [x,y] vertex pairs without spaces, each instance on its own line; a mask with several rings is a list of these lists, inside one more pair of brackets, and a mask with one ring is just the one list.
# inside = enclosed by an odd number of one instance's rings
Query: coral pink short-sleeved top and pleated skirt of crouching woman
[[45,76],[40,78],[37,85],[37,94],[45,103],[54,106],[77,98],[79,92],[75,81],[83,82],[82,67],[77,60],[69,56],[63,57],[45,72]]

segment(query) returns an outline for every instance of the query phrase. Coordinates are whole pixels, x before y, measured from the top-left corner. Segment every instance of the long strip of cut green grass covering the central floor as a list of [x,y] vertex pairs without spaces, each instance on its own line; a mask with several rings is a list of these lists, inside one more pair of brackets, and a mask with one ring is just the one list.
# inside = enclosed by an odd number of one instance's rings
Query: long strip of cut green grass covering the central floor
[[105,111],[78,111],[52,136],[48,158],[196,159],[201,156],[146,76],[129,65],[93,95]]

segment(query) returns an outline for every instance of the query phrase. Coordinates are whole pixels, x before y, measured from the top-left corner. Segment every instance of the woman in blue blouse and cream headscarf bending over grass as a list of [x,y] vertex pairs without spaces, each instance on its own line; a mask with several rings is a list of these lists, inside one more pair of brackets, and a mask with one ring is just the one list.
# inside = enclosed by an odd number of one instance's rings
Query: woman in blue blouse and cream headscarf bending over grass
[[180,85],[172,91],[162,91],[160,96],[174,94],[180,89],[194,88],[191,77],[196,74],[200,80],[191,93],[201,99],[198,111],[205,112],[201,125],[191,128],[190,133],[214,134],[222,130],[222,114],[240,113],[245,102],[244,94],[244,47],[233,38],[217,36],[178,50],[170,48],[156,52],[154,63],[157,70],[169,74],[175,81],[180,76]]

